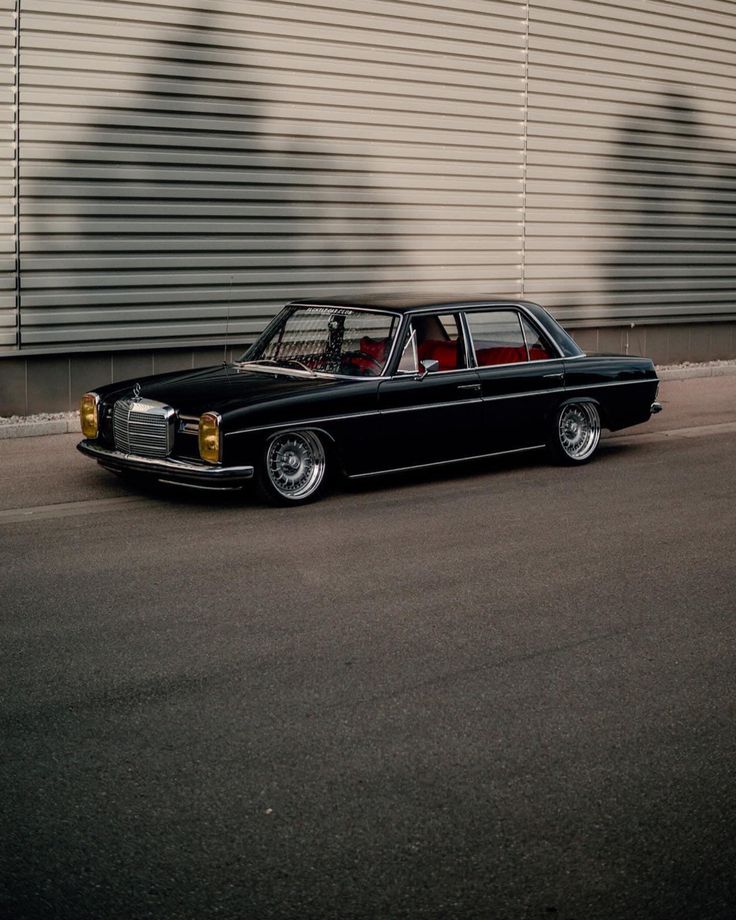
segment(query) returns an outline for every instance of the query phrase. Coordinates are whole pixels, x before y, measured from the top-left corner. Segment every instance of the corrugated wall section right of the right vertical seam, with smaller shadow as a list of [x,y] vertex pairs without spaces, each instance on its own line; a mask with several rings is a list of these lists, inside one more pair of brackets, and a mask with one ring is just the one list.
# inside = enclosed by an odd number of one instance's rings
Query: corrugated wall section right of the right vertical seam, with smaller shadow
[[533,0],[525,288],[576,324],[736,315],[736,7]]

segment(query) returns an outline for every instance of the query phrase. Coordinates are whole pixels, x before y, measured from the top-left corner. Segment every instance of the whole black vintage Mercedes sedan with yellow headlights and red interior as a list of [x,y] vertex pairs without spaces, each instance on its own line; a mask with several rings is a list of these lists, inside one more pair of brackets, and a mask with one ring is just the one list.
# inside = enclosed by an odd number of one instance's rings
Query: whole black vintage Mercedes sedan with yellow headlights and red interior
[[601,428],[659,411],[648,358],[586,355],[526,301],[287,304],[239,361],[86,393],[79,450],[123,475],[255,482],[316,498],[375,476],[546,448],[586,463]]

